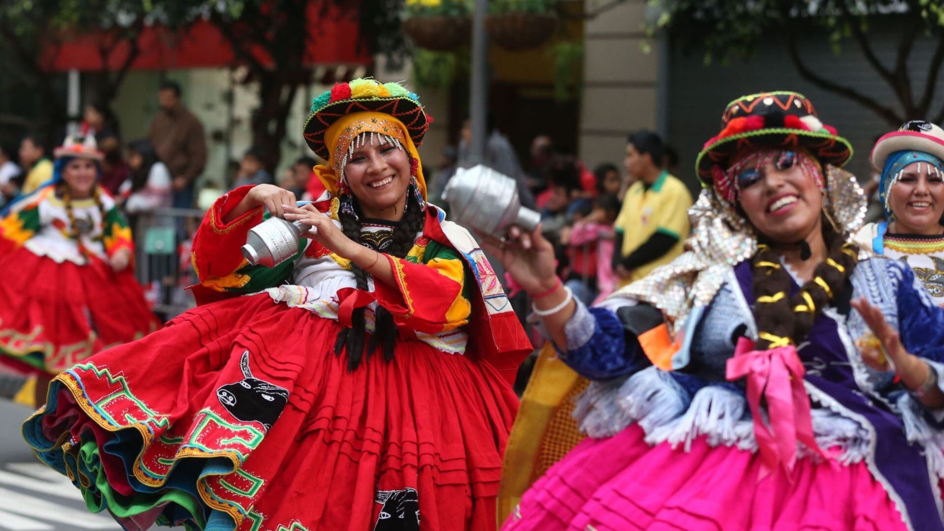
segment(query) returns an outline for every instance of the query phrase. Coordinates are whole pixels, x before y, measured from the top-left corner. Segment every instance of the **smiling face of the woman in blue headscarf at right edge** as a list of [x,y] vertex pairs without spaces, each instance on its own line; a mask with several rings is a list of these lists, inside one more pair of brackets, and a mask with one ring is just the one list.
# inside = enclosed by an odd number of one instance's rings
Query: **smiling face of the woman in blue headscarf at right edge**
[[910,163],[888,190],[893,230],[905,234],[939,234],[944,214],[944,182],[929,163]]

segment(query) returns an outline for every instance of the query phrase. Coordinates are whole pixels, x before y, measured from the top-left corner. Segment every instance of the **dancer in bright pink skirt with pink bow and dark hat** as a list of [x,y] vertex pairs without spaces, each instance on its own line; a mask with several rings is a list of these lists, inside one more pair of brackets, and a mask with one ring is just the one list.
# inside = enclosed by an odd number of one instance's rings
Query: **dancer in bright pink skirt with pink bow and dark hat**
[[589,437],[503,529],[944,529],[944,310],[851,242],[850,157],[801,94],[734,100],[698,157],[686,252],[596,307],[540,231],[488,244],[591,381]]

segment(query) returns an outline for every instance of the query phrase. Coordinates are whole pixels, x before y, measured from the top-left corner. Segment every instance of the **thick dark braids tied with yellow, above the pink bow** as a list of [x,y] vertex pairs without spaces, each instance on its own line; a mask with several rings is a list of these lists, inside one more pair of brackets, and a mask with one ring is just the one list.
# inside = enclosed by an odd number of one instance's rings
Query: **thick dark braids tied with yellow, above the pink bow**
[[780,263],[780,256],[762,244],[754,256],[753,288],[756,304],[757,350],[763,351],[792,343],[799,345],[810,332],[823,308],[842,292],[855,269],[858,254],[845,234],[832,231],[824,220],[824,237],[830,253],[813,271],[813,279],[804,283],[792,298],[787,297],[790,276]]

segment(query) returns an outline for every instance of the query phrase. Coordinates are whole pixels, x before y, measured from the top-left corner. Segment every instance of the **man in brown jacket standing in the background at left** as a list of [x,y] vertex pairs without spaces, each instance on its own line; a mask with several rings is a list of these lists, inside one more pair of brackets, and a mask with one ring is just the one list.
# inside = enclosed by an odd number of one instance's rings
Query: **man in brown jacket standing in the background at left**
[[160,85],[160,112],[151,121],[147,138],[171,172],[173,205],[190,208],[194,204],[194,181],[207,163],[207,142],[203,124],[183,106],[180,94],[180,85],[174,81]]

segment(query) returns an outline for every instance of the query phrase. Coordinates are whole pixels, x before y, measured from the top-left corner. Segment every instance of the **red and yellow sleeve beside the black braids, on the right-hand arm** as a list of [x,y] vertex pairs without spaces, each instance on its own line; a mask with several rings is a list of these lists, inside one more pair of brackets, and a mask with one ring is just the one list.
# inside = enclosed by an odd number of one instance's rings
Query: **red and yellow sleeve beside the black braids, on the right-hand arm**
[[426,264],[413,264],[383,256],[394,268],[396,286],[378,282],[374,296],[394,315],[398,326],[438,334],[468,324],[472,306],[463,295],[465,270],[461,259],[433,258]]

